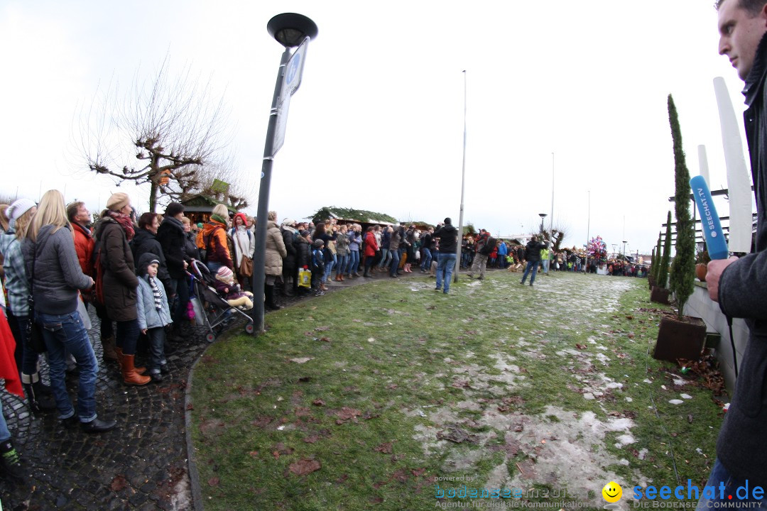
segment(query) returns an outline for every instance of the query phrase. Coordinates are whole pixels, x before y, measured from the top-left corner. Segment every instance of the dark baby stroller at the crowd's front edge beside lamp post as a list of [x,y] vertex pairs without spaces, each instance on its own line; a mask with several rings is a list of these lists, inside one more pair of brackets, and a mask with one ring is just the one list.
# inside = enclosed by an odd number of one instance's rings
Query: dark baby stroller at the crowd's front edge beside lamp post
[[[237,307],[229,305],[216,291],[213,285],[216,277],[210,274],[208,267],[199,260],[193,260],[186,272],[191,277],[192,286],[189,297],[196,299],[199,306],[195,306],[195,318],[198,325],[204,325],[208,329],[206,340],[213,342],[232,321],[232,313],[238,313],[248,320],[245,323],[245,332],[253,333],[253,319]],[[201,311],[202,310],[202,311]],[[202,313],[200,313],[202,312]],[[201,317],[200,317],[201,316]]]

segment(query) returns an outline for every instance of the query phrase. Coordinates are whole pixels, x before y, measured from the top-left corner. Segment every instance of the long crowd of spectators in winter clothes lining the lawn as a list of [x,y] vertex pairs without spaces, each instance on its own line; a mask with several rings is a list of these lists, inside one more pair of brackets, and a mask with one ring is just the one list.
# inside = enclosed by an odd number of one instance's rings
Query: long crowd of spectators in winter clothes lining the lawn
[[[163,215],[137,217],[129,196],[116,193],[94,222],[83,202],[64,205],[56,190],[38,204],[20,198],[0,206],[4,312],[15,342],[13,362],[33,411],[58,411],[62,421],[79,421],[89,433],[115,427],[115,421],[97,416],[98,362],[87,336],[91,307],[100,319],[104,362],[117,365],[125,385],[162,381],[166,352],[189,336],[193,261],[202,261],[216,278],[222,298],[252,307],[255,219],[217,205],[206,223],[194,224],[184,209],[171,202]],[[415,224],[374,224],[363,231],[358,223],[334,219],[285,218],[278,224],[277,213],[269,211],[266,223],[267,309],[281,308],[279,282],[285,296],[323,296],[328,280],[397,278],[414,270],[435,275],[435,289],[449,293],[459,239],[449,218],[423,230]],[[537,237],[522,246],[482,229],[462,240],[462,267],[471,268],[469,277],[484,278],[487,267],[525,266],[522,283],[531,274],[532,285],[539,266],[546,274],[581,265],[574,251],[551,251]],[[616,262],[610,270],[631,274],[632,267]],[[139,345],[146,346],[146,367],[136,363]],[[50,367],[49,387],[39,374],[42,352]],[[77,409],[64,384],[67,371],[79,374]],[[2,441],[0,424],[0,453]]]

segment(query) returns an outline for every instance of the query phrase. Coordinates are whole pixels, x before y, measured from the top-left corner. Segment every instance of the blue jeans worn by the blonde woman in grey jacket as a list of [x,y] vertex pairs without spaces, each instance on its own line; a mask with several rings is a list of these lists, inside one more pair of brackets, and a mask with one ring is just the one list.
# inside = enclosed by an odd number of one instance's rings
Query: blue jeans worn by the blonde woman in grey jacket
[[45,346],[48,347],[51,390],[56,400],[59,418],[68,419],[74,415],[72,401],[67,394],[67,384],[64,381],[64,370],[67,367],[64,361],[66,350],[74,355],[77,368],[80,369],[80,380],[77,385],[77,417],[81,422],[93,421],[96,418],[94,393],[98,362],[80,313],[77,310],[61,315],[35,313],[35,321],[42,327]]

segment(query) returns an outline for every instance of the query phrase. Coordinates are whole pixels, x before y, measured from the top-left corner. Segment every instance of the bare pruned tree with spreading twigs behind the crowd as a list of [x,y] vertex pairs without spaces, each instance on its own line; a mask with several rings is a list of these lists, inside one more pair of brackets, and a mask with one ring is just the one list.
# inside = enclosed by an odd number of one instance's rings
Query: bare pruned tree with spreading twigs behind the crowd
[[[169,67],[166,57],[146,83],[137,74],[124,96],[116,84],[109,87],[81,115],[88,169],[114,178],[117,185],[150,185],[150,211],[155,211],[160,194],[179,200],[185,191],[200,187],[202,169],[222,169],[232,162],[223,97],[212,98],[210,81],[200,86],[189,66],[175,79]],[[131,158],[140,165],[130,165]]]

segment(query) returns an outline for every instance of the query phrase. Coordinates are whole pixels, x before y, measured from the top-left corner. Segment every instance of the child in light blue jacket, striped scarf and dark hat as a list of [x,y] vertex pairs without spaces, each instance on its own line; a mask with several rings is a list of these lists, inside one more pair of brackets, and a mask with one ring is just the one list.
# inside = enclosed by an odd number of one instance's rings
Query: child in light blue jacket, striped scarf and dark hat
[[165,359],[165,326],[173,323],[170,318],[168,297],[163,283],[157,278],[160,261],[151,252],[139,257],[139,287],[137,288],[137,309],[139,328],[149,337],[150,363],[148,375],[156,382],[168,372]]

